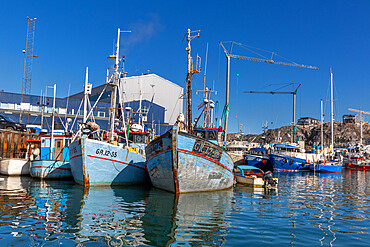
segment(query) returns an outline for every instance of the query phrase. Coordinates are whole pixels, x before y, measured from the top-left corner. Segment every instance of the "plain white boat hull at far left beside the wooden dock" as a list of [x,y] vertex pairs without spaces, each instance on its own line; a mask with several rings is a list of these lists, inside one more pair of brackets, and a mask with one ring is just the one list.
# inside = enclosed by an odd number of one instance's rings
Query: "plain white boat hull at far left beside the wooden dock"
[[25,159],[2,159],[0,173],[8,176],[29,175],[30,162]]

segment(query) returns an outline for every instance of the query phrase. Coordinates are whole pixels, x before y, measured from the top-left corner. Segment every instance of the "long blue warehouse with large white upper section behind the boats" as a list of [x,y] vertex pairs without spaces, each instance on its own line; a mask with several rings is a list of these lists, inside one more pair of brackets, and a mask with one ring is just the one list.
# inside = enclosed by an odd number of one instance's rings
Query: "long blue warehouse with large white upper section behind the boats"
[[[124,81],[121,84],[124,86],[119,91],[121,92],[119,97],[123,98],[126,117],[128,113],[126,110],[129,107],[132,109],[132,119],[138,121],[138,115],[133,113],[137,112],[141,101],[141,112],[146,112],[144,125],[152,129],[156,135],[162,134],[174,124],[178,114],[182,112],[182,87],[154,74],[128,77],[122,80]],[[89,96],[91,106],[95,104],[103,88],[105,84],[92,89],[92,94]],[[101,129],[108,128],[111,93],[111,88],[108,86],[93,110],[93,117]],[[78,122],[81,122],[83,117],[83,96],[83,92],[80,92],[70,97],[56,98],[56,129],[65,129],[68,118],[72,120],[68,123],[68,129],[77,129]],[[21,104],[19,93],[0,92],[0,114],[16,122],[26,123],[28,126],[40,126],[43,122],[42,128],[50,131],[53,97],[43,99],[42,96],[30,95],[27,101]],[[121,115],[119,109],[117,118]]]

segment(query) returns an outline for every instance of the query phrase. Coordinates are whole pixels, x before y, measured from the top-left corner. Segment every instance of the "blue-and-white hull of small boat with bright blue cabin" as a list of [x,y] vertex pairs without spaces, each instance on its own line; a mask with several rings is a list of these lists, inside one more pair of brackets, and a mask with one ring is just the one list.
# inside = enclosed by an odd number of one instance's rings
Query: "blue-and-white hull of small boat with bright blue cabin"
[[41,179],[72,178],[69,161],[33,160],[30,164],[30,175]]

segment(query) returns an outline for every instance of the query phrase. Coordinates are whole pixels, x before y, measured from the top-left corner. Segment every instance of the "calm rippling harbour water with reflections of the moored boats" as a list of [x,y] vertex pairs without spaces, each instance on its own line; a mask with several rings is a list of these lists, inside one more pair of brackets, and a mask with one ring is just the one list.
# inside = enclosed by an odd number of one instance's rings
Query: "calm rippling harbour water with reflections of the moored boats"
[[280,173],[277,191],[175,196],[1,177],[1,246],[369,246],[370,172]]

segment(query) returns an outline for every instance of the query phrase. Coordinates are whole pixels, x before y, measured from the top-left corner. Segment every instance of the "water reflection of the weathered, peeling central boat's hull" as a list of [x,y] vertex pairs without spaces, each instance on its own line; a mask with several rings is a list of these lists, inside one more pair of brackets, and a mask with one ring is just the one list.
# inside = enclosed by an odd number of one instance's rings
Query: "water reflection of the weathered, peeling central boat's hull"
[[230,222],[233,191],[175,195],[150,191],[144,237],[153,246],[221,246]]

